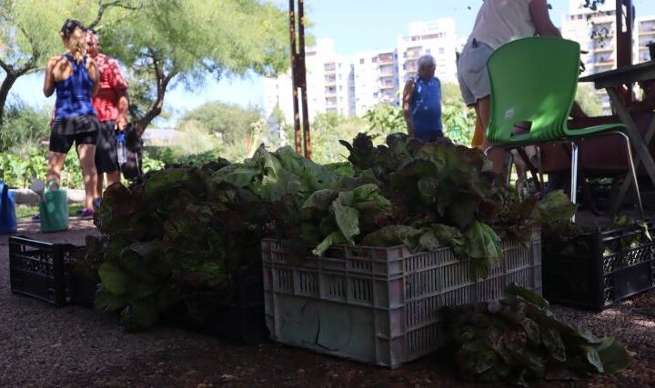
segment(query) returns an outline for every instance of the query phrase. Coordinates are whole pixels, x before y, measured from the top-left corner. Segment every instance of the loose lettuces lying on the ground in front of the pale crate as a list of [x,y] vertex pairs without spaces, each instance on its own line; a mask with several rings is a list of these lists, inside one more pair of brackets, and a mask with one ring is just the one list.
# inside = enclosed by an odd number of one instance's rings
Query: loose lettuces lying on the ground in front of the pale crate
[[440,310],[460,375],[469,381],[529,386],[542,379],[590,379],[630,365],[612,338],[561,323],[538,294],[509,284],[505,298]]

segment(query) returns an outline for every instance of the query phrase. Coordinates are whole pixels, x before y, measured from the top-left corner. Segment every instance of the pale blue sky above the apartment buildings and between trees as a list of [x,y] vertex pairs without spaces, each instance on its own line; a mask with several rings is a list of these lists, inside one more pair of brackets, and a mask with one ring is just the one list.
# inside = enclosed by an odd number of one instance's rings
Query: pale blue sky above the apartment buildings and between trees
[[[288,1],[273,2],[287,9]],[[480,0],[307,0],[305,15],[312,25],[306,29],[306,34],[332,38],[336,51],[342,55],[393,47],[398,36],[407,35],[408,24],[415,21],[452,17],[458,35],[466,37],[480,4]],[[569,12],[569,0],[549,0],[549,4],[552,5],[550,18],[559,26],[561,15]],[[633,4],[638,16],[655,15],[655,0],[633,0]],[[54,96],[45,99],[42,87],[43,73],[36,73],[19,78],[11,93],[35,106],[55,104]],[[157,124],[171,126],[185,111],[212,101],[261,107],[264,102],[263,78],[257,75],[232,76],[219,82],[207,80],[201,90],[187,91],[180,86],[168,91],[165,110],[173,114],[173,120]]]

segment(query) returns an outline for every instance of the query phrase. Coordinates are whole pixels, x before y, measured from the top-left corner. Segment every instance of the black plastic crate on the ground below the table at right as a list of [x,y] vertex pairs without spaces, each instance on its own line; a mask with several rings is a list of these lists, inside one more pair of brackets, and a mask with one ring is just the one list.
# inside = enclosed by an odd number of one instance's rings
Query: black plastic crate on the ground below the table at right
[[[647,225],[655,238],[655,221]],[[639,226],[580,234],[573,243],[588,246],[589,254],[544,252],[543,294],[546,299],[551,303],[601,311],[612,303],[655,288],[655,241],[642,237],[634,242],[636,236],[643,236]],[[630,240],[633,243],[629,245]]]

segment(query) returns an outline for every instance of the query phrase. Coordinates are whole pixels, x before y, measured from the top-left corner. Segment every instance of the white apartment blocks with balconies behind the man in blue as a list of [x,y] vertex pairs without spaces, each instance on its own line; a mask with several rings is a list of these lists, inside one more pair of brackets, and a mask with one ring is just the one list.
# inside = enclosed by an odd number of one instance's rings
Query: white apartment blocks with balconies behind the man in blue
[[[398,37],[395,47],[350,56],[338,55],[331,39],[317,39],[316,45],[307,47],[305,59],[309,120],[324,113],[361,116],[380,103],[398,105],[405,81],[417,75],[421,55],[434,56],[435,73],[442,82],[456,83],[460,42],[453,19],[410,23],[408,35]],[[290,123],[290,71],[265,81],[267,115],[276,106]]]

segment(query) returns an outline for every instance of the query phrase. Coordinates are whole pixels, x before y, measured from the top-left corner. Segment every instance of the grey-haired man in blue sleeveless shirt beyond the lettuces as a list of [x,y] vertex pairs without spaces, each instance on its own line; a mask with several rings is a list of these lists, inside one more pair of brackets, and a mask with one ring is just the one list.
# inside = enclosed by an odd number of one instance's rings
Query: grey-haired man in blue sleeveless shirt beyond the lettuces
[[426,142],[443,136],[441,129],[441,84],[434,76],[432,55],[418,59],[418,77],[410,79],[403,91],[403,114],[409,135]]

